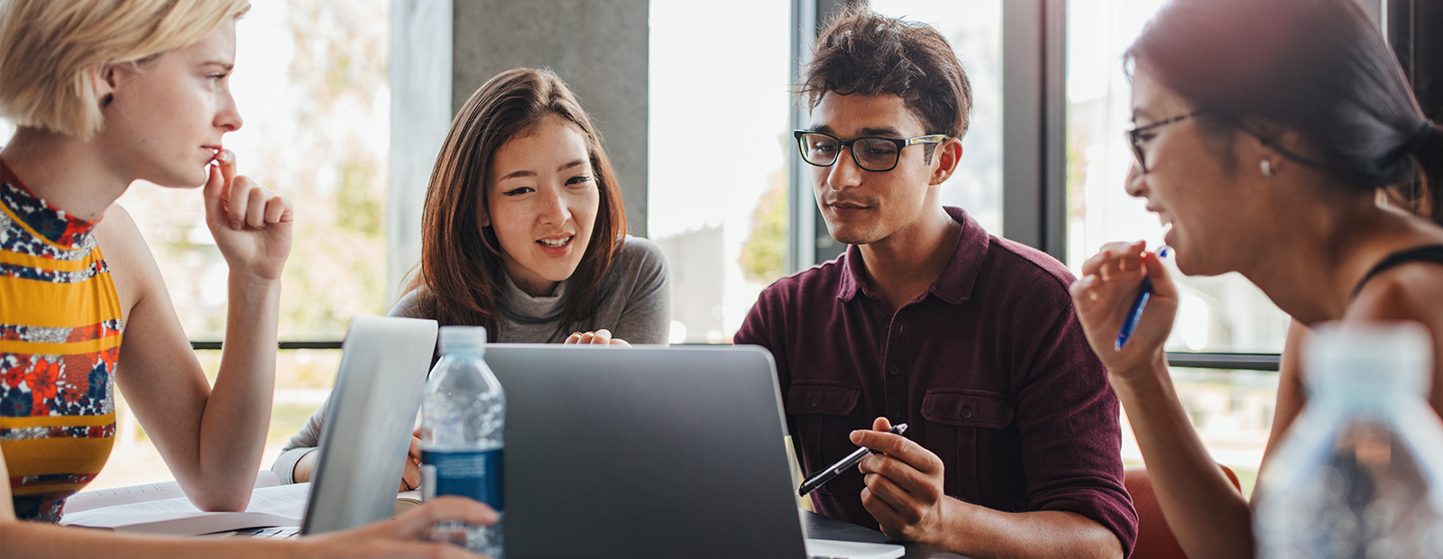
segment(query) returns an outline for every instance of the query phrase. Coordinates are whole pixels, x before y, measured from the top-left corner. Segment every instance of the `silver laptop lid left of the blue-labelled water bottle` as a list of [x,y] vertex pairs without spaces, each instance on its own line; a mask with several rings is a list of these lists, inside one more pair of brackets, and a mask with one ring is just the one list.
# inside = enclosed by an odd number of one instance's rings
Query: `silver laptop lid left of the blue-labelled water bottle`
[[436,331],[434,320],[351,320],[300,533],[391,517]]

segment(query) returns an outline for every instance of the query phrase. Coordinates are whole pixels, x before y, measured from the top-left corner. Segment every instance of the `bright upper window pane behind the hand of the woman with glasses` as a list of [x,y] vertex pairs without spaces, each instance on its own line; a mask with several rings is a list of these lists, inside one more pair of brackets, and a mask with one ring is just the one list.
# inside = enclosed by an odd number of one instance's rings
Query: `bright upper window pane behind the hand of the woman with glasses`
[[[1074,1],[1068,10],[1068,251],[1076,269],[1111,241],[1162,242],[1157,216],[1123,192],[1131,97],[1123,50],[1160,0]],[[1287,317],[1237,274],[1180,277],[1172,352],[1280,352]]]

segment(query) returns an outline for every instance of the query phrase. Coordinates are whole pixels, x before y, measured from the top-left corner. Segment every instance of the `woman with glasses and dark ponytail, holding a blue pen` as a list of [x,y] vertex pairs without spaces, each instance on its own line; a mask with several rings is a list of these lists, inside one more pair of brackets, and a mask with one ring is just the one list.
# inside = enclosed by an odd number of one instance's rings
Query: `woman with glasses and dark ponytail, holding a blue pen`
[[[1268,452],[1307,405],[1309,327],[1410,320],[1443,354],[1443,131],[1352,0],[1175,0],[1128,49],[1128,194],[1170,226],[1189,275],[1240,272],[1293,324]],[[1072,285],[1167,523],[1192,558],[1254,553],[1251,511],[1177,399],[1163,343],[1177,288],[1144,243],[1110,243]],[[1152,301],[1118,349],[1143,280]],[[1443,360],[1430,402],[1443,409]]]

